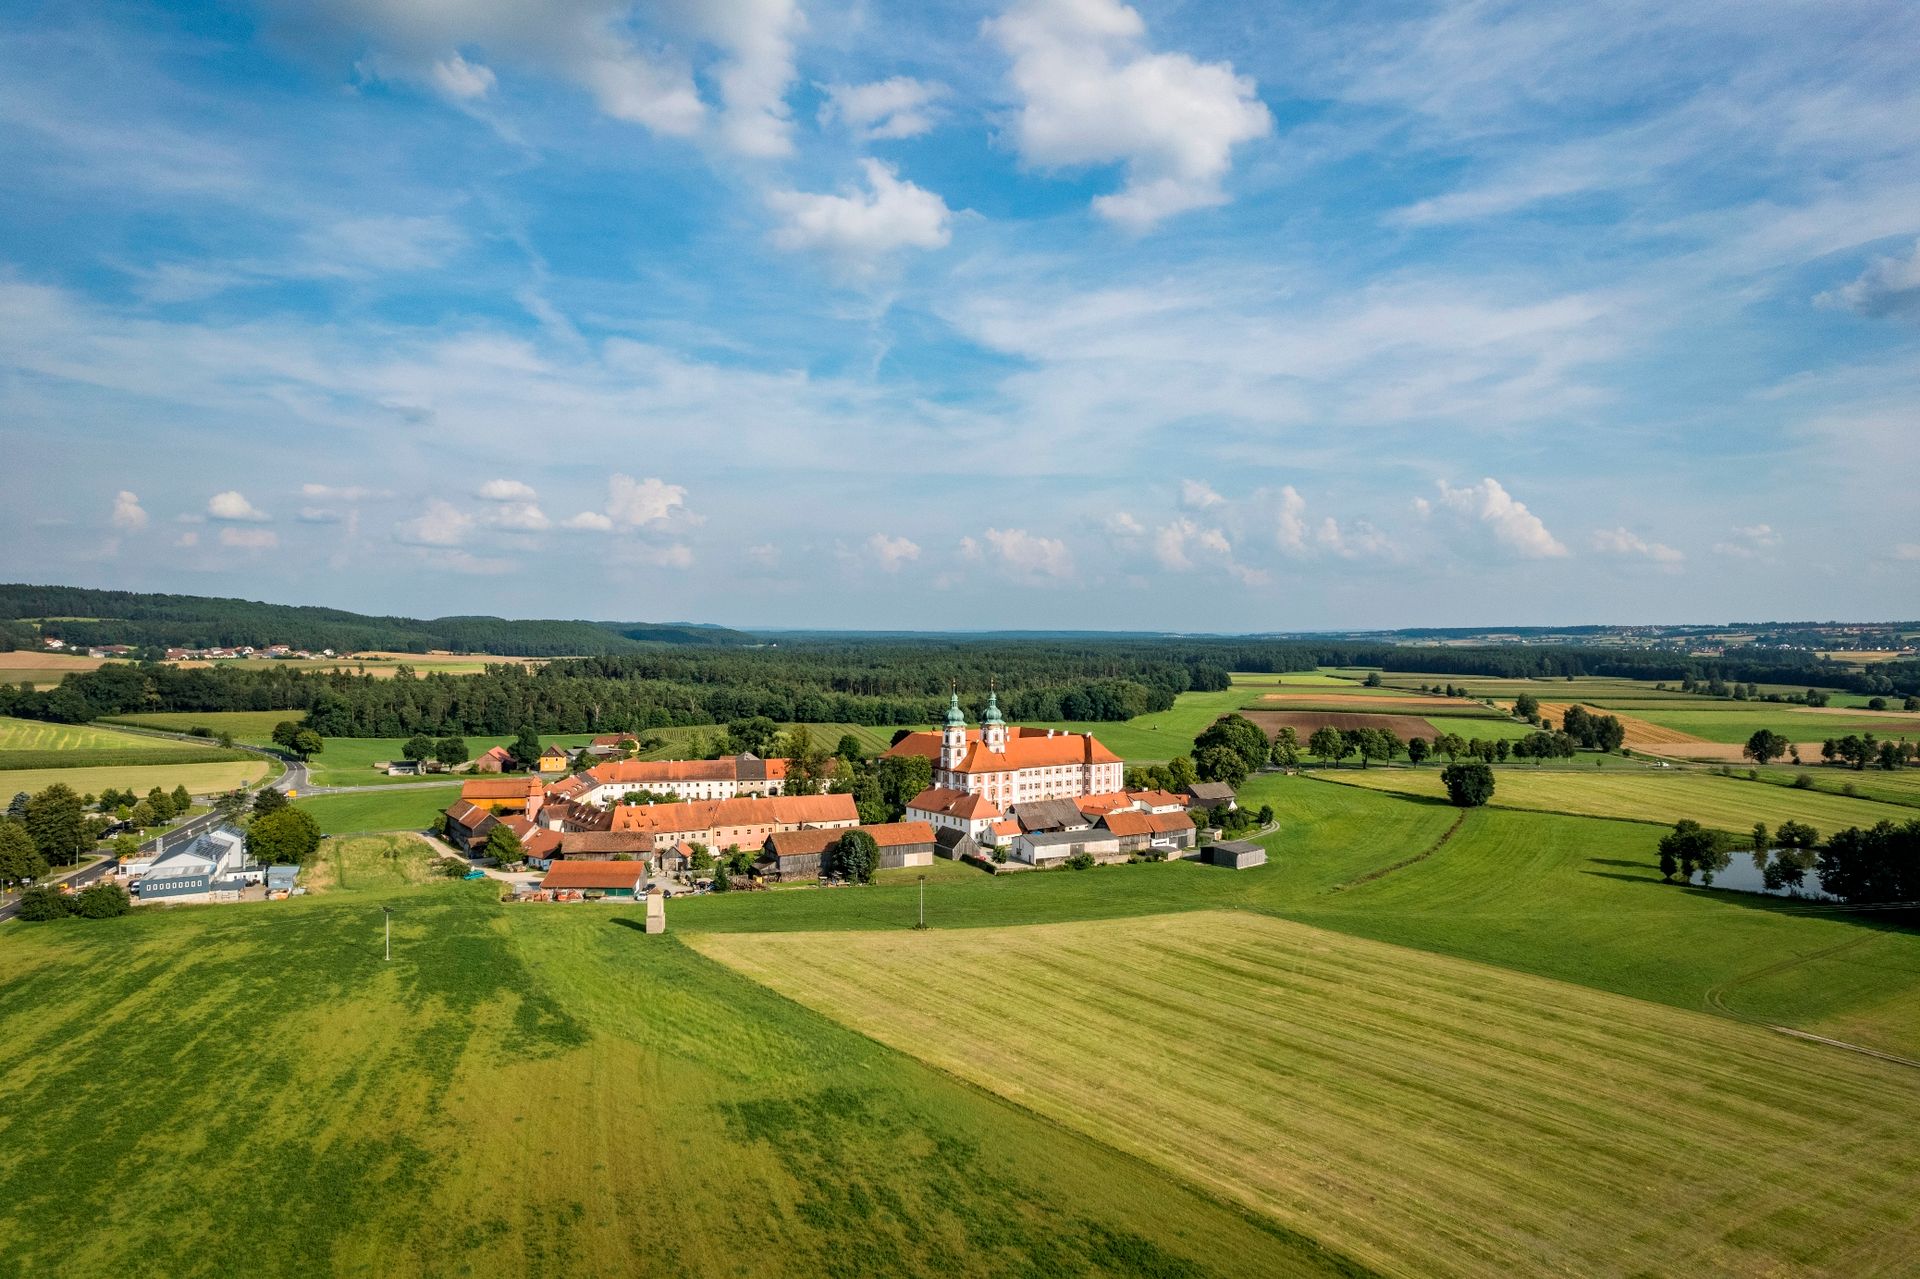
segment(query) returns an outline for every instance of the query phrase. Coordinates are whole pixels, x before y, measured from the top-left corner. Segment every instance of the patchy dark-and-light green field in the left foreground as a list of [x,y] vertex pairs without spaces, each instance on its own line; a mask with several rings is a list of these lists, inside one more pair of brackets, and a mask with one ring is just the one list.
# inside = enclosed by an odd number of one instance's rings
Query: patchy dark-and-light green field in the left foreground
[[[365,851],[313,897],[0,929],[0,1269],[1357,1273],[632,908],[509,910]],[[221,1087],[123,1087],[179,1060]],[[273,1210],[129,1193],[186,1164]]]

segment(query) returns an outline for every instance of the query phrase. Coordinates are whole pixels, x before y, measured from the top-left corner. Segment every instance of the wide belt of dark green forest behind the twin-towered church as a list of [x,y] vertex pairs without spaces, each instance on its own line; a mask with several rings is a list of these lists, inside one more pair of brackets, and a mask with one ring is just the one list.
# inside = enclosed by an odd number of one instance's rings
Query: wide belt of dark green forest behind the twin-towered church
[[1112,722],[1164,711],[1188,689],[1223,689],[1229,670],[1313,666],[1503,678],[1630,676],[1728,689],[1728,695],[1734,689],[1759,695],[1757,682],[1920,691],[1914,663],[1859,674],[1778,653],[1709,661],[1580,647],[1428,649],[1208,638],[801,638],[760,647],[636,643],[634,649],[540,668],[499,664],[480,676],[420,676],[405,666],[396,668],[396,678],[372,678],[275,663],[190,670],[109,663],[56,688],[0,684],[0,714],[83,722],[136,711],[303,711],[328,737],[513,734],[526,724],[540,732],[611,732],[747,716],[881,726],[937,718],[950,689],[960,691],[970,716],[979,716],[987,689],[998,688],[1000,707],[1016,722]]

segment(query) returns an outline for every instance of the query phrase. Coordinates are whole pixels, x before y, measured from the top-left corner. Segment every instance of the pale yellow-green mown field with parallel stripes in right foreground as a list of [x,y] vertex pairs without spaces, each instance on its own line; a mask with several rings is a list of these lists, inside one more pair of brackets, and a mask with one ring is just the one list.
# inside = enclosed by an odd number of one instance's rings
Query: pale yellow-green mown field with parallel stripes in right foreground
[[1912,1074],[1764,1029],[1235,912],[693,945],[1382,1271],[1912,1262]]

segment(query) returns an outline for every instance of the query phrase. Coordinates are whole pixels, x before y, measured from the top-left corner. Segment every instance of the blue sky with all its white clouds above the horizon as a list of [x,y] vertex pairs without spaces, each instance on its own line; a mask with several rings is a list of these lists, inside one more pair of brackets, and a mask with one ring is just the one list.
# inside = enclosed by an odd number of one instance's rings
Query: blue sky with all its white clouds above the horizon
[[1907,0],[10,6],[0,576],[1912,616],[1916,48]]

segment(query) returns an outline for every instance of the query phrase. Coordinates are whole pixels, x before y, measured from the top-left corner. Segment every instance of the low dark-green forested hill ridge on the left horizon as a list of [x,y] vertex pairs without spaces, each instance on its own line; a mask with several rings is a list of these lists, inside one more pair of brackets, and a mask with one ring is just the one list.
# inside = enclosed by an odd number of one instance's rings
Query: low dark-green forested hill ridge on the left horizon
[[357,653],[492,653],[499,657],[599,657],[662,643],[751,643],[745,632],[697,622],[584,622],[499,616],[371,616],[346,609],[275,605],[213,595],[96,591],[79,586],[0,584],[0,649],[73,645],[236,647],[290,643]]

